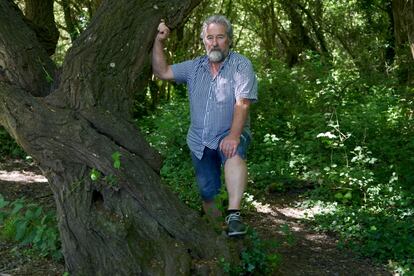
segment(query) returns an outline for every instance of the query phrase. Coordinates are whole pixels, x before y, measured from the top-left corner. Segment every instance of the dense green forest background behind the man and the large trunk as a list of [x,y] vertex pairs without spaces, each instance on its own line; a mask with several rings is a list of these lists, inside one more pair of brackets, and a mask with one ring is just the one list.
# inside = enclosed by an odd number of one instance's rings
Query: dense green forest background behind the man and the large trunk
[[[30,0],[15,2],[25,10]],[[54,2],[57,64],[99,5]],[[315,229],[413,273],[414,1],[202,1],[173,30],[170,62],[203,54],[201,23],[213,13],[232,21],[233,50],[252,60],[259,79],[248,193],[303,189],[308,204],[326,210],[310,221]],[[145,89],[134,99],[137,125],[165,159],[165,182],[197,209],[186,89],[154,78]],[[4,129],[0,140],[2,158],[25,155]]]

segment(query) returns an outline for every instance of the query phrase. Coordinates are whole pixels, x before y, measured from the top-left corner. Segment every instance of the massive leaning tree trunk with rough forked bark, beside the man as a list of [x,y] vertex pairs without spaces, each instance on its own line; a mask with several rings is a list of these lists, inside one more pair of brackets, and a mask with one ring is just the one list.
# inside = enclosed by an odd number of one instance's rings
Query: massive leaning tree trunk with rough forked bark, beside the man
[[162,185],[159,155],[129,120],[158,23],[174,28],[197,2],[103,1],[52,82],[45,49],[0,0],[0,123],[49,180],[71,275],[216,275],[219,257],[234,259]]

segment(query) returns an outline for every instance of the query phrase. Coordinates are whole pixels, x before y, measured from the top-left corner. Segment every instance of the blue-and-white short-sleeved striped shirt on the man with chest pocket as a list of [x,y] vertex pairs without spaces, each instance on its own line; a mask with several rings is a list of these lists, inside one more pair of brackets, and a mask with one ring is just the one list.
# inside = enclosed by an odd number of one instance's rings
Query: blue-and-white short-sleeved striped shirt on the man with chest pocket
[[[230,51],[215,77],[207,56],[174,64],[172,71],[174,80],[188,87],[191,124],[187,144],[201,159],[205,147],[217,149],[229,133],[236,99],[257,100],[253,66],[246,57]],[[250,133],[249,120],[245,131]]]

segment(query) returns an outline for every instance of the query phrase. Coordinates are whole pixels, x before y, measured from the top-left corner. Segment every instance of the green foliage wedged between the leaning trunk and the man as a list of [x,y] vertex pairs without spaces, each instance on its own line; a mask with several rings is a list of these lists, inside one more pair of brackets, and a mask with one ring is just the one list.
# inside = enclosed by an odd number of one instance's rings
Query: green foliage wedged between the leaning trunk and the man
[[200,208],[200,197],[186,144],[189,127],[187,99],[159,106],[155,114],[137,123],[147,141],[163,156],[161,177],[174,193],[193,209]]

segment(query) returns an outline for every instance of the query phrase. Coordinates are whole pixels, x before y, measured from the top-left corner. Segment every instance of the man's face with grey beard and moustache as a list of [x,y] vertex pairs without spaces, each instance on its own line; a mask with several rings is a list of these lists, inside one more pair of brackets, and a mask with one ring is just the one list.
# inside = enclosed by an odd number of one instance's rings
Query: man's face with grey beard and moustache
[[227,57],[231,41],[224,25],[215,23],[208,25],[203,42],[211,62],[219,63]]

